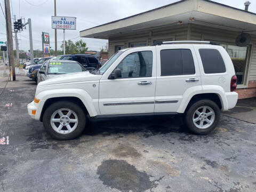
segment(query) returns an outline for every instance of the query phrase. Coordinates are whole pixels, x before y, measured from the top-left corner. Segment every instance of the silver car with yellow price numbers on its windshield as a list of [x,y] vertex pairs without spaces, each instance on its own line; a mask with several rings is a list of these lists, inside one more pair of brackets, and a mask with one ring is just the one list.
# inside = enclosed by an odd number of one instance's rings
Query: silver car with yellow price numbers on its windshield
[[57,75],[77,73],[86,69],[77,61],[48,60],[43,63],[37,73],[37,84]]

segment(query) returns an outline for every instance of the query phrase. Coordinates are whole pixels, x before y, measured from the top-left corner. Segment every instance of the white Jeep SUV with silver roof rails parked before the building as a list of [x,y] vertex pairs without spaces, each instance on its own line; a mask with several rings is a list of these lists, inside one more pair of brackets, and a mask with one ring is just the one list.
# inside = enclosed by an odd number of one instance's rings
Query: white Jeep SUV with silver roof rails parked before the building
[[159,42],[118,51],[99,70],[39,83],[28,113],[60,140],[78,137],[87,115],[183,114],[192,132],[206,134],[217,126],[220,110],[235,107],[236,81],[223,47]]

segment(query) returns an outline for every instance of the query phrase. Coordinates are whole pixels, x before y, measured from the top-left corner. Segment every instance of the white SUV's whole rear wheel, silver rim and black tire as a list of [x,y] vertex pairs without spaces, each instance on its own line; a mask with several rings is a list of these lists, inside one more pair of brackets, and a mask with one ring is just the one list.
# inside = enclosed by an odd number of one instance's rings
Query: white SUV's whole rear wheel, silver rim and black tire
[[189,107],[185,113],[185,123],[194,133],[212,132],[220,120],[220,109],[211,100],[200,100]]

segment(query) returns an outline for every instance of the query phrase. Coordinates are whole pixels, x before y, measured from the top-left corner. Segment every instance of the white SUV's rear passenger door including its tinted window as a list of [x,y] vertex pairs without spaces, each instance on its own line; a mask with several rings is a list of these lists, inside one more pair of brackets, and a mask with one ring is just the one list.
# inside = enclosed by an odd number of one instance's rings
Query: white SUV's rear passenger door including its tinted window
[[193,45],[156,46],[157,81],[155,113],[177,112],[183,94],[202,90],[201,76]]

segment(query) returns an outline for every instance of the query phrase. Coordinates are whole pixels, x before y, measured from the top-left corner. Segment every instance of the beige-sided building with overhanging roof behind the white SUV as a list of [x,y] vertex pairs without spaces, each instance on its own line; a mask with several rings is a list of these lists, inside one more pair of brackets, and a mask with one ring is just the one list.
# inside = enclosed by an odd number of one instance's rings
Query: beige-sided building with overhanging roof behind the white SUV
[[[244,39],[249,43],[237,46],[241,33],[249,34],[251,40]],[[159,41],[217,42],[233,61],[238,97],[256,97],[256,13],[209,0],[182,0],[82,30],[80,36],[108,39],[109,57],[126,47]]]

